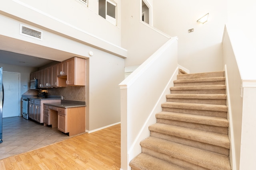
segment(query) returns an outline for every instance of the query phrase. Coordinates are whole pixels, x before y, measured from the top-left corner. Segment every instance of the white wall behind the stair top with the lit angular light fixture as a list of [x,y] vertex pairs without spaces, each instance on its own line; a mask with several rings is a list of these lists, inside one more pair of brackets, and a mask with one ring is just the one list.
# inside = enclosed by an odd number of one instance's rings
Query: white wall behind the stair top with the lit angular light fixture
[[[222,70],[226,0],[153,0],[153,26],[179,38],[178,63],[190,73]],[[209,13],[204,24],[196,21]],[[188,33],[188,29],[194,32]]]

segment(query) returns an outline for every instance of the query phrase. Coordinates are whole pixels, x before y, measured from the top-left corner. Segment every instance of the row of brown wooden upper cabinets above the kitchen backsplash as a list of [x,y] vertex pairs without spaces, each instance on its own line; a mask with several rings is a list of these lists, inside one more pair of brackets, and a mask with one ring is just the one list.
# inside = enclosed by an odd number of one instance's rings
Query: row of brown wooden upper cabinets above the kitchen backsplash
[[30,74],[30,80],[38,79],[38,88],[85,86],[86,59],[72,57]]

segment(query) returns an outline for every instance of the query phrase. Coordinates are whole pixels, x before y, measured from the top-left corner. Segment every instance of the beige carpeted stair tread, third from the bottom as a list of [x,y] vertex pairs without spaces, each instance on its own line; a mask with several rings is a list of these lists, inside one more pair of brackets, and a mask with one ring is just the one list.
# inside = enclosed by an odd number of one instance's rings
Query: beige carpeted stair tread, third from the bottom
[[228,139],[228,135],[220,133],[211,133],[186,127],[166,125],[162,123],[155,123],[154,125],[150,125],[148,129],[150,131],[155,131],[166,135],[172,135],[192,141],[207,143],[227,149],[230,148],[230,141]]

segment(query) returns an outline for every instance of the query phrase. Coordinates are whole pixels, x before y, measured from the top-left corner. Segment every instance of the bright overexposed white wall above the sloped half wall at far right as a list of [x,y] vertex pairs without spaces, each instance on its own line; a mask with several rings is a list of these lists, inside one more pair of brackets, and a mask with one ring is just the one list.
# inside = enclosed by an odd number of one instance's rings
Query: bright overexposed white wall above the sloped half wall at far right
[[228,0],[228,31],[243,80],[256,79],[256,1]]

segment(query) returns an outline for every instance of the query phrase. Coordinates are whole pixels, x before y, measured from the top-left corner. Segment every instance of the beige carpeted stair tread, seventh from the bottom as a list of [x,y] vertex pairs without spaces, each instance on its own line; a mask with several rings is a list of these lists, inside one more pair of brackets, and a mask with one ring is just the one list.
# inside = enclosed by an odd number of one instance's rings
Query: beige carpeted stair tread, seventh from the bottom
[[176,86],[170,87],[170,90],[223,90],[226,85],[206,85],[206,86]]

